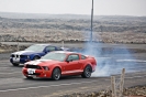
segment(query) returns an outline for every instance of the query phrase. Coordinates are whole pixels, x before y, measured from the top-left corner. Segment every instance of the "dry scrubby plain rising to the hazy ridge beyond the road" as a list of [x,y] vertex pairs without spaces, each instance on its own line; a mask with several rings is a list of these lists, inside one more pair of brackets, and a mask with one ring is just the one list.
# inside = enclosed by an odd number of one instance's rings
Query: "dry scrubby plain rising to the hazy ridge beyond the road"
[[[90,28],[90,15],[0,13],[0,42],[85,42]],[[94,15],[92,41],[146,43],[146,18]]]

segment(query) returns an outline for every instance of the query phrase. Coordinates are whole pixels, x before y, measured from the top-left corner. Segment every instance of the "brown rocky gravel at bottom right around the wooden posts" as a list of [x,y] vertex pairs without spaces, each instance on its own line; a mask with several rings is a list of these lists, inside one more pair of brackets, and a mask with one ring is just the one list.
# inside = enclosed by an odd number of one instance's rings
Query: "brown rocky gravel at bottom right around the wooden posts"
[[[146,97],[146,86],[135,86],[130,88],[124,88],[124,97]],[[64,95],[60,97],[112,97],[111,90],[101,90],[92,93],[75,93],[70,95]],[[117,95],[119,97],[119,95]]]

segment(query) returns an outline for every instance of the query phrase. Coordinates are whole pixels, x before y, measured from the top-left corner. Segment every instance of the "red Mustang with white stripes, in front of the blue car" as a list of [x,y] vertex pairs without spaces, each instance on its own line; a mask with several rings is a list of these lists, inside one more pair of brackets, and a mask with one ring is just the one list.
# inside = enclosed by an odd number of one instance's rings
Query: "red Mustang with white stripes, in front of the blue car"
[[26,62],[22,73],[26,78],[52,78],[59,79],[61,76],[81,75],[89,78],[96,71],[94,57],[75,52],[57,51],[50,52],[41,60]]

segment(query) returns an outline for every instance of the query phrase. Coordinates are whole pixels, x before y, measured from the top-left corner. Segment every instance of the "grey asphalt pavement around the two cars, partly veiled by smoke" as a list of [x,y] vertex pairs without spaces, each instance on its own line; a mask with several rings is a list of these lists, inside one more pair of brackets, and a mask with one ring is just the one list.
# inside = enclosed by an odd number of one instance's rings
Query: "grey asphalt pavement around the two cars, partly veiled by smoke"
[[[138,46],[130,45],[128,48]],[[139,47],[145,48],[145,45]],[[49,78],[26,79],[21,73],[23,66],[13,67],[9,56],[10,53],[0,54],[0,97],[58,97],[65,94],[108,89],[111,75],[114,75],[119,83],[122,68],[126,69],[124,87],[146,85],[146,53],[124,52],[96,56],[98,66],[91,78],[71,76],[56,82]]]

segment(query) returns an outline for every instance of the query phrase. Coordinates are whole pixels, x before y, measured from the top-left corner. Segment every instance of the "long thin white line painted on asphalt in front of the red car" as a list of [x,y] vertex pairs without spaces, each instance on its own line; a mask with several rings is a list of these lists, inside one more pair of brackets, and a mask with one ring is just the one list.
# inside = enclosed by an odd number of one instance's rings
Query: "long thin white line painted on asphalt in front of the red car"
[[58,84],[58,85],[49,85],[49,86],[26,87],[26,88],[15,88],[15,89],[7,89],[7,90],[0,90],[0,91],[15,91],[15,90],[37,89],[37,88],[46,88],[46,87],[69,86],[69,85],[78,85],[78,84],[94,83],[94,82],[97,82],[97,80],[81,82],[81,83],[69,83],[69,84]]

